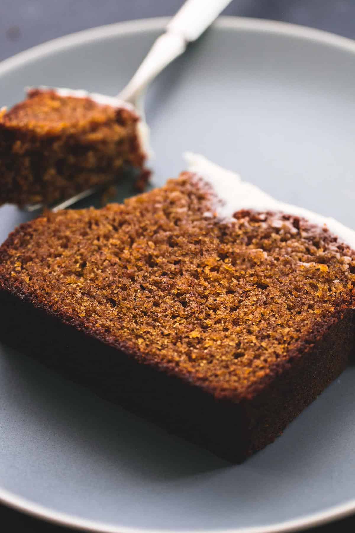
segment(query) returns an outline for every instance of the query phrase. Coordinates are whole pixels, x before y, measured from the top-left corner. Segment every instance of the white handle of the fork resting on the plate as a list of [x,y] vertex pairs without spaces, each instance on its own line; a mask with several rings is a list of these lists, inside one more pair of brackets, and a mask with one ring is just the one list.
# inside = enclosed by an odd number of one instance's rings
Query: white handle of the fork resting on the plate
[[158,37],[118,98],[137,103],[139,95],[171,61],[186,50],[190,41],[207,29],[231,0],[187,0]]

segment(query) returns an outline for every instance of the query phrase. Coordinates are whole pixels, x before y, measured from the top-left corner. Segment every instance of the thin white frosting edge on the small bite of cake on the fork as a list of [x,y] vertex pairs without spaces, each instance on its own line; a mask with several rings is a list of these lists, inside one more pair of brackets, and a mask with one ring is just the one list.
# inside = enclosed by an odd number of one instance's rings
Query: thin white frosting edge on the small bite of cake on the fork
[[[48,87],[46,85],[39,85],[38,87],[26,87],[26,92],[34,90],[54,91],[57,95],[63,96],[63,98],[68,98],[68,96],[71,98],[89,98],[101,106],[111,106],[117,109],[128,109],[139,117],[139,113],[131,103],[120,100],[116,96],[108,96],[100,93],[89,93],[84,89],[70,89],[68,87]],[[144,122],[144,120],[141,118],[139,118],[137,123],[137,134],[142,151],[145,153],[147,158],[152,157],[152,149],[150,147],[150,129],[146,122]]]

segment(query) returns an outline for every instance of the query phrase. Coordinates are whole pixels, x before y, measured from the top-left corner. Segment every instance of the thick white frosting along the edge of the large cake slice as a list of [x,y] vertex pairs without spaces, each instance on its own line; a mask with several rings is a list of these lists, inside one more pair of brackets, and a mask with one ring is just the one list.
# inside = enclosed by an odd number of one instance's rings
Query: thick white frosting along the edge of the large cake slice
[[319,215],[309,209],[276,200],[256,185],[243,181],[235,172],[211,163],[199,154],[185,152],[184,158],[187,161],[188,171],[201,176],[216,193],[219,201],[214,208],[220,219],[231,221],[233,213],[240,209],[283,212],[303,217],[320,227],[328,228],[343,243],[355,249],[355,231],[332,217]]

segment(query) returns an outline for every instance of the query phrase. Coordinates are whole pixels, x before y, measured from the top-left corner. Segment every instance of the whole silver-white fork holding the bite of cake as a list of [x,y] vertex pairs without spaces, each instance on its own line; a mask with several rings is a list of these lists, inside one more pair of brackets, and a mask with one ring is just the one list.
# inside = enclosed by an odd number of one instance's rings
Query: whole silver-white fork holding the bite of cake
[[[187,0],[166,26],[145,59],[128,84],[117,95],[117,99],[130,103],[141,117],[143,135],[148,138],[149,129],[145,122],[145,93],[147,86],[160,72],[186,50],[188,43],[197,38],[211,25],[231,0]],[[65,209],[79,200],[97,192],[91,188],[78,193],[52,206],[52,211]],[[31,204],[24,207],[27,212],[34,212],[43,207],[42,204]]]

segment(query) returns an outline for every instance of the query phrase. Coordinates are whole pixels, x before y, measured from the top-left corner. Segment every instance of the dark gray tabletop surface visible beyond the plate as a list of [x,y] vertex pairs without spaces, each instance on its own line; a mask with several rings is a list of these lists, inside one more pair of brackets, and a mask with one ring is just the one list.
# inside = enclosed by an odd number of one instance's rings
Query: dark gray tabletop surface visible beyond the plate
[[[0,0],[0,60],[73,31],[171,15],[181,4],[182,0]],[[234,0],[225,14],[283,20],[355,38],[355,0]],[[0,523],[9,523],[7,531],[69,532],[2,506]],[[349,528],[355,530],[354,518],[312,531],[341,533]]]

